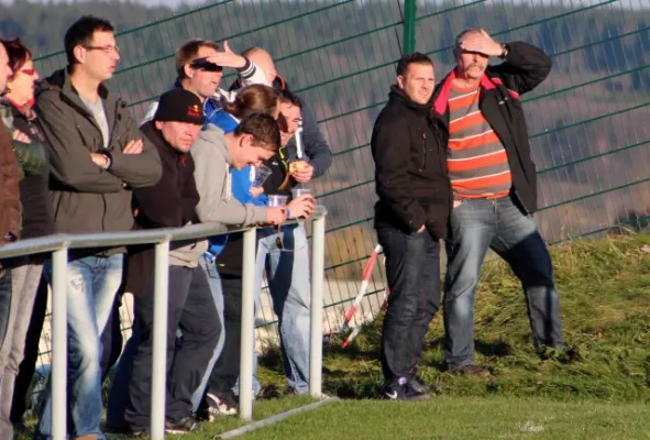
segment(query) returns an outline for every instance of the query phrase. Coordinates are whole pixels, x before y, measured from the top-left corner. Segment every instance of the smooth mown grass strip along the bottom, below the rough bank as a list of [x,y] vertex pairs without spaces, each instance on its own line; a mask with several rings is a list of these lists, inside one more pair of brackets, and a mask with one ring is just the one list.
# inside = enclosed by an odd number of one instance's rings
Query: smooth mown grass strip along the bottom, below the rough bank
[[650,439],[643,405],[442,396],[426,403],[345,400],[258,429],[242,440]]

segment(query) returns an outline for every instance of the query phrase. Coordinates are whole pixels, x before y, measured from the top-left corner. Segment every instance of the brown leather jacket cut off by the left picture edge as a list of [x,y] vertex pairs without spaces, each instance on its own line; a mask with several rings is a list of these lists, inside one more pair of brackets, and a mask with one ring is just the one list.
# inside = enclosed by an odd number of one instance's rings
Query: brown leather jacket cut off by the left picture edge
[[0,245],[7,242],[8,234],[20,238],[21,211],[20,168],[9,132],[0,123]]

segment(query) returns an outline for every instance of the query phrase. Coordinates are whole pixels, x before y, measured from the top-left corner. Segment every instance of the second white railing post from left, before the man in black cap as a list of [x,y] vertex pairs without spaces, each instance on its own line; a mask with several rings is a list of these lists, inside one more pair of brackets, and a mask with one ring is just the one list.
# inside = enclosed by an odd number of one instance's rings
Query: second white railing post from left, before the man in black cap
[[165,438],[165,382],[167,375],[167,299],[169,295],[169,241],[156,244],[154,334],[151,384],[151,438]]

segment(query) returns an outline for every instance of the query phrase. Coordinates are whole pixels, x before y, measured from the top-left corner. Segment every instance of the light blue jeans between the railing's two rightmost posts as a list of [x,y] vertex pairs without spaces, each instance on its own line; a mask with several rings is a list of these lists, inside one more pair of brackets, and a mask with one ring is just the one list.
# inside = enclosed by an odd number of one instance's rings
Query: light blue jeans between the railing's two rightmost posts
[[266,271],[273,311],[279,320],[285,374],[289,387],[295,393],[304,394],[309,392],[309,246],[302,223],[284,226],[280,234],[285,251],[277,248],[273,229],[257,232],[255,309],[260,310],[262,274]]

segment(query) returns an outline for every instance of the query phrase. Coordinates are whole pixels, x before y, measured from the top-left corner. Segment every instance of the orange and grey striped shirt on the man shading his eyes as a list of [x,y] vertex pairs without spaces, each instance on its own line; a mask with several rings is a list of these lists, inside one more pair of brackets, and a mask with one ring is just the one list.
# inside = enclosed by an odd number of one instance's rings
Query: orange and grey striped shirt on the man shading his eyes
[[455,196],[494,199],[508,195],[513,177],[508,154],[478,109],[480,94],[451,87],[447,166]]

